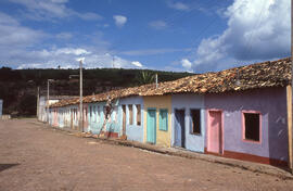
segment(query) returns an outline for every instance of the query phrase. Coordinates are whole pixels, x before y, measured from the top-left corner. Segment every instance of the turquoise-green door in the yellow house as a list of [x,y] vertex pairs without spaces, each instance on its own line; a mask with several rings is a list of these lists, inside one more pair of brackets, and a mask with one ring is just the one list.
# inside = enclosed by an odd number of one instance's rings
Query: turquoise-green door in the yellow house
[[148,119],[146,119],[146,142],[155,144],[156,136],[156,123],[155,123],[155,109],[148,109]]

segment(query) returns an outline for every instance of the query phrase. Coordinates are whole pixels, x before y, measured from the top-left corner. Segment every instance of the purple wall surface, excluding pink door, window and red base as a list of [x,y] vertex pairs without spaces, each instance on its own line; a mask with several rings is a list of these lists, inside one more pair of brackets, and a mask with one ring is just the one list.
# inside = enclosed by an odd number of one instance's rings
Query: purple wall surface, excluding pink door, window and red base
[[[205,106],[222,110],[225,151],[288,160],[285,88],[206,94]],[[260,112],[260,143],[243,141],[242,111]]]

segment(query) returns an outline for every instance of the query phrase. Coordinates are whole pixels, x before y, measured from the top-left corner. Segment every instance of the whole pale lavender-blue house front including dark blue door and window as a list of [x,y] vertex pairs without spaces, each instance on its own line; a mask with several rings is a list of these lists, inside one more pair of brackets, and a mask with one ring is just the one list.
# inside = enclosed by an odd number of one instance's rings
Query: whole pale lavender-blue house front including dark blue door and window
[[201,94],[173,94],[171,112],[171,145],[204,152],[204,97]]

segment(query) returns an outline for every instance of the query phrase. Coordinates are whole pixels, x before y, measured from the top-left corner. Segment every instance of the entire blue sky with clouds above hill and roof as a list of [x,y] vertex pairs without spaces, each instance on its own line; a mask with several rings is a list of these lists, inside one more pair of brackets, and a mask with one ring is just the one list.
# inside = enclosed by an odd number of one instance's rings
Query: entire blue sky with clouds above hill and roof
[[1,0],[0,66],[203,73],[290,55],[289,0]]

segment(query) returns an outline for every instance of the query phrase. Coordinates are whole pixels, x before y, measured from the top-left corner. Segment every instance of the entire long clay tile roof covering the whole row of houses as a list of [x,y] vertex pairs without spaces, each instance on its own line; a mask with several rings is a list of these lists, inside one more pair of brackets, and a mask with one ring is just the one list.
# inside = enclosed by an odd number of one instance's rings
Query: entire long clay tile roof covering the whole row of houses
[[[131,96],[162,96],[170,93],[219,93],[242,91],[255,88],[283,87],[291,84],[291,59],[268,61],[252,65],[234,67],[217,73],[188,76],[174,81],[143,85],[140,87],[112,90],[109,92],[84,97],[85,103],[106,101]],[[61,100],[51,107],[78,104],[79,98]]]

